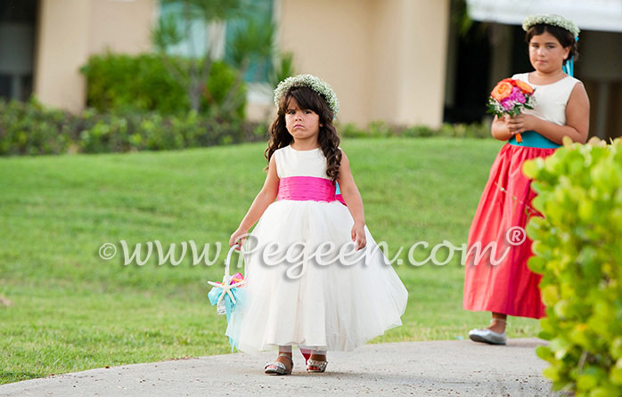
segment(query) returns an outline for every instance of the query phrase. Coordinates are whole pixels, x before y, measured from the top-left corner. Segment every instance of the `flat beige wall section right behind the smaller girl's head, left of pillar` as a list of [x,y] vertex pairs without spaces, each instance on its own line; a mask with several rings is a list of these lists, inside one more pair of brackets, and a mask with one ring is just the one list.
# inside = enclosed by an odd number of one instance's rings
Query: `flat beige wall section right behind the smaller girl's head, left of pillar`
[[364,125],[371,110],[370,40],[374,0],[280,0],[279,42],[298,73],[326,80],[340,99],[341,121]]

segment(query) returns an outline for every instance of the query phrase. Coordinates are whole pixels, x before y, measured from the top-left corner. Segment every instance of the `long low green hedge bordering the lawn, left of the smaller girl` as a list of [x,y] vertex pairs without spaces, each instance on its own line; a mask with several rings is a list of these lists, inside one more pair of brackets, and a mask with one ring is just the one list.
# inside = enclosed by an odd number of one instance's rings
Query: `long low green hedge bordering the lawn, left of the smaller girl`
[[36,100],[0,101],[0,155],[174,150],[266,140],[266,126],[186,112],[99,113],[74,116]]

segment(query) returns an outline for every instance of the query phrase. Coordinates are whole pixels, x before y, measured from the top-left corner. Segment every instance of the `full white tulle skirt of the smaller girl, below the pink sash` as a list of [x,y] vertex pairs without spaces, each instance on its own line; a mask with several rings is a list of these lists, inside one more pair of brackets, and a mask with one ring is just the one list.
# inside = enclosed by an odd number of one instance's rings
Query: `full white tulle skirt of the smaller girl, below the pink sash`
[[245,244],[245,301],[227,328],[239,350],[349,351],[402,324],[404,284],[366,228],[367,247],[355,254],[353,224],[338,201],[266,209]]

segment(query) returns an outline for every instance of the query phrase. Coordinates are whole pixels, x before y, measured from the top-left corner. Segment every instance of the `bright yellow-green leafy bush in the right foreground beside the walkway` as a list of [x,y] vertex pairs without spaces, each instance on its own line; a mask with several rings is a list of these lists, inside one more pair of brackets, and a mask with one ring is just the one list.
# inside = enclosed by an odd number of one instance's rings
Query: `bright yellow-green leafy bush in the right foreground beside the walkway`
[[622,141],[565,142],[523,171],[544,215],[528,223],[551,341],[536,351],[551,363],[544,376],[577,396],[622,395]]

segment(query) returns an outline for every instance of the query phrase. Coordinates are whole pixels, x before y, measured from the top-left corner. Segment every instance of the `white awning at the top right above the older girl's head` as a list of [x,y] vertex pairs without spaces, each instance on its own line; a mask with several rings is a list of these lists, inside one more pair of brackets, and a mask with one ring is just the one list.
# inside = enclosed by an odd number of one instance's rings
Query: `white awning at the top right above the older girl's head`
[[469,16],[520,25],[532,14],[554,13],[581,29],[622,32],[622,0],[467,0]]

